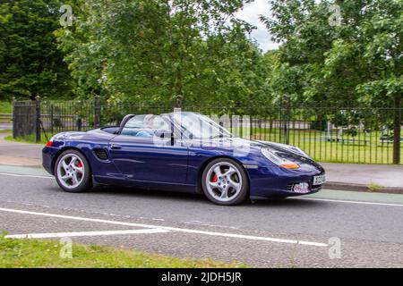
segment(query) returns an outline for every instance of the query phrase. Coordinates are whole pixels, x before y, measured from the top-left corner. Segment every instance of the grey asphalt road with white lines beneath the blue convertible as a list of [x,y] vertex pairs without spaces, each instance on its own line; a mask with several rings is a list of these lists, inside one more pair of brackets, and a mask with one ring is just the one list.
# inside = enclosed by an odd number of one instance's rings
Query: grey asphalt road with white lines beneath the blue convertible
[[[323,190],[225,207],[201,196],[136,189],[68,194],[34,168],[0,166],[0,182],[0,231],[10,235],[71,236],[257,267],[403,266],[403,195]],[[330,258],[337,241],[330,238],[341,241],[339,258]]]

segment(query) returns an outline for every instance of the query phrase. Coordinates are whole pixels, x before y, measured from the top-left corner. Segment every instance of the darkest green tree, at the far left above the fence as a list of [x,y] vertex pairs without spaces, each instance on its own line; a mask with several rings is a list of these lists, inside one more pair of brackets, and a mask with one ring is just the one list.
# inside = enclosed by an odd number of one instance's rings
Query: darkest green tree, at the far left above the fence
[[57,49],[56,0],[0,4],[0,98],[71,96],[72,81]]

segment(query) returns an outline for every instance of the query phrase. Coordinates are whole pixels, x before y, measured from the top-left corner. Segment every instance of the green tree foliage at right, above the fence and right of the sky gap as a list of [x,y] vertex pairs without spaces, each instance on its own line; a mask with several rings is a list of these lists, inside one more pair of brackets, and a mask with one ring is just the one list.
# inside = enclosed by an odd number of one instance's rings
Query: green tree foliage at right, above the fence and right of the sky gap
[[[274,0],[264,21],[276,53],[270,87],[298,102],[400,105],[403,94],[401,0]],[[331,26],[332,4],[340,24]]]

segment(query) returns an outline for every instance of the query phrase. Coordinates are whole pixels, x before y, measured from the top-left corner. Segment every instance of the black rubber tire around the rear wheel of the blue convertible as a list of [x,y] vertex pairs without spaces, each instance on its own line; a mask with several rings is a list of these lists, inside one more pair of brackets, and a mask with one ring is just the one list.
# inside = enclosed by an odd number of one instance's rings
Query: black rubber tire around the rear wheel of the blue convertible
[[[84,170],[84,174],[81,177],[81,182],[75,188],[66,188],[64,186],[64,183],[61,181],[62,179],[59,178],[58,171],[57,171],[57,168],[59,167],[60,161],[65,156],[68,156],[68,155],[77,156],[78,158],[80,158],[81,163],[82,163],[82,167],[83,167],[83,170]],[[64,151],[60,156],[57,157],[54,172],[55,172],[55,177],[56,177],[57,184],[59,185],[59,187],[61,189],[63,189],[66,192],[69,192],[69,193],[82,193],[82,192],[89,191],[92,188],[92,173],[91,173],[91,169],[90,169],[90,163],[88,162],[87,158],[84,155],[82,155],[82,153],[80,151],[77,151],[77,150],[74,150],[74,149],[69,149],[69,150]]]

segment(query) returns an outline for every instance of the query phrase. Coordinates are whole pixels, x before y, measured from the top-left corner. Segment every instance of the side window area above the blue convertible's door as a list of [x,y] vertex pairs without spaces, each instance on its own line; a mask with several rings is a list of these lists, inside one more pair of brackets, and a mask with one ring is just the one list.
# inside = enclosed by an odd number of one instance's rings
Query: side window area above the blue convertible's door
[[156,130],[169,130],[169,124],[159,115],[137,115],[126,123],[122,135],[152,138]]

